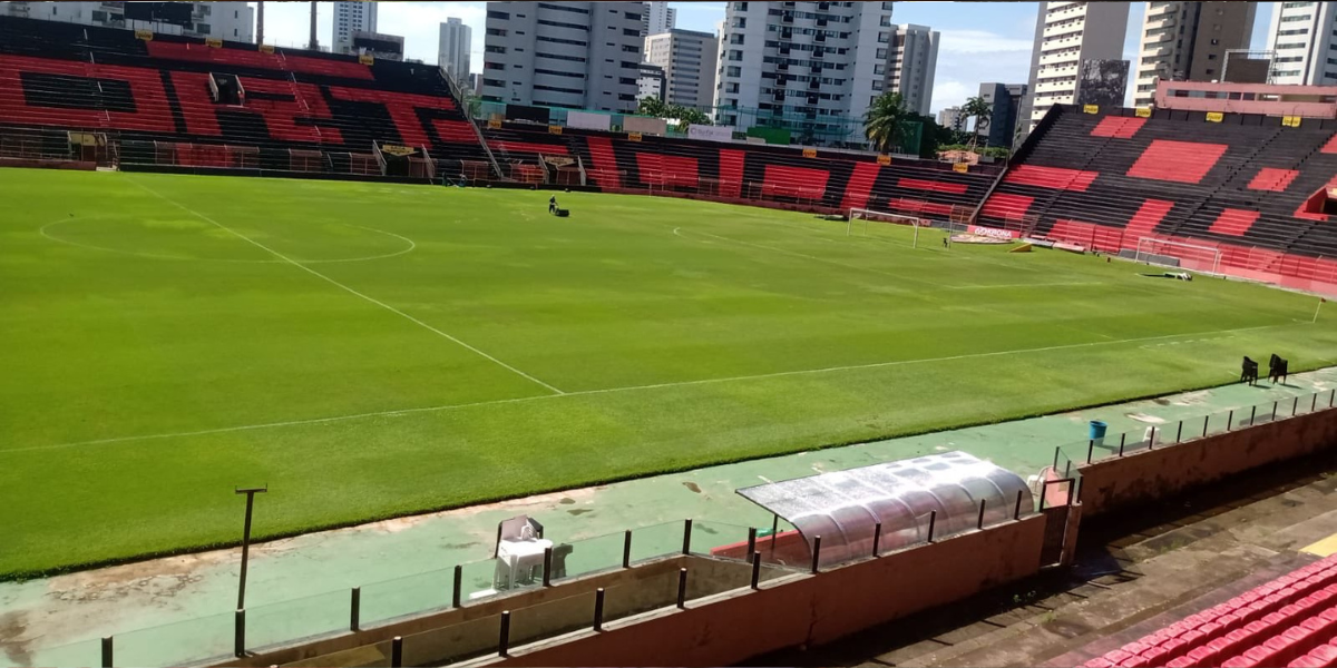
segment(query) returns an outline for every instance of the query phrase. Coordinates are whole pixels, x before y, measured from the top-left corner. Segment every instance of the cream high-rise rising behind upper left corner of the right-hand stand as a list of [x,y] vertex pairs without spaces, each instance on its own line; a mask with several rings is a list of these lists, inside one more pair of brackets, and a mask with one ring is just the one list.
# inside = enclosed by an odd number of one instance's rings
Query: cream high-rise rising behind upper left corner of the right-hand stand
[[1076,100],[1083,60],[1123,57],[1128,3],[1040,3],[1031,47],[1031,80],[1021,107],[1023,135],[1055,104]]

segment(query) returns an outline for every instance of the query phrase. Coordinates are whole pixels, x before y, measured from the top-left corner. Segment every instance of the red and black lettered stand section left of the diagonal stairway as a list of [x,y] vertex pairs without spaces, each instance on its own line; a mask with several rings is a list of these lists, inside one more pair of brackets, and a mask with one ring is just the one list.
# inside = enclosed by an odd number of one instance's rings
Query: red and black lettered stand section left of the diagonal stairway
[[[243,104],[215,103],[235,75]],[[436,67],[0,17],[0,124],[114,131],[124,139],[368,154],[372,143],[476,159],[472,128]],[[151,144],[150,144],[151,146]],[[150,160],[151,162],[151,160]]]

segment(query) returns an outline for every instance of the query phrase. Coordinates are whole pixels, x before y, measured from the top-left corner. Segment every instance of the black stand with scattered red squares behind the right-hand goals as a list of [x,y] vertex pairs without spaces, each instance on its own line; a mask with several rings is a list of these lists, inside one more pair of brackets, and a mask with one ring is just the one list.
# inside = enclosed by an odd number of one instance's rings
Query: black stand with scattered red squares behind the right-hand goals
[[1135,253],[1139,239],[1155,238],[1215,248],[1222,273],[1337,285],[1337,231],[1325,211],[1337,184],[1337,122],[1054,114],[980,207],[980,224],[1007,227],[1029,215],[1036,234],[1102,253]]

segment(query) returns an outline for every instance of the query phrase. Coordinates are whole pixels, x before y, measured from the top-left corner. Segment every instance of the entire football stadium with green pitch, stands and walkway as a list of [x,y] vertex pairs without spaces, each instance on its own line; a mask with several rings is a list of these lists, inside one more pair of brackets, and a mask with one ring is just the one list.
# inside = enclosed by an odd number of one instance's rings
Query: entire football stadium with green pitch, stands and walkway
[[[944,160],[0,13],[0,665],[1337,665],[1310,98]],[[1128,572],[1218,580],[888,653]]]

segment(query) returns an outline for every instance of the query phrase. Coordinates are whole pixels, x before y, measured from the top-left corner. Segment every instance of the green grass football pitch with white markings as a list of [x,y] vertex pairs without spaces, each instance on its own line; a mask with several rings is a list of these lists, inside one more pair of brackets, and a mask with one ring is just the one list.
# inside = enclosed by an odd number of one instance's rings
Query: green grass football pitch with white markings
[[[1330,363],[1313,297],[666,198],[0,172],[0,577]],[[1165,345],[1174,343],[1174,345]]]

